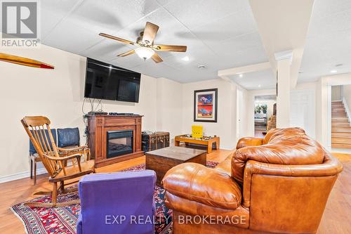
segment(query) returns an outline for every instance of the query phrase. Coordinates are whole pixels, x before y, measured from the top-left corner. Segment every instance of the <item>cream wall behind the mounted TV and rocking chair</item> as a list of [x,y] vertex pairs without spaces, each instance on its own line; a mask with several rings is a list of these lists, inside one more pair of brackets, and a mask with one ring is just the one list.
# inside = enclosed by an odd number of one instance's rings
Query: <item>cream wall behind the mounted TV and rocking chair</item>
[[[26,115],[47,116],[53,128],[79,126],[81,143],[85,143],[81,107],[86,70],[86,58],[44,45],[37,49],[3,49],[1,52],[41,60],[54,65],[55,69],[0,62],[0,181],[4,176],[29,174],[29,140],[20,123]],[[143,129],[156,130],[157,79],[142,76],[139,103],[103,101],[103,109],[144,115]],[[85,111],[89,111],[88,103]]]

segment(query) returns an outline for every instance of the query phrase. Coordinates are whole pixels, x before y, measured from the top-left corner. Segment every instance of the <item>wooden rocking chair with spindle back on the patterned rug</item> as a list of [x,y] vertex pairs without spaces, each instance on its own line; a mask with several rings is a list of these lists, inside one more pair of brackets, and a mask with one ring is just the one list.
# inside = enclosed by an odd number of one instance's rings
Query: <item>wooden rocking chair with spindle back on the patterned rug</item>
[[[50,203],[27,202],[29,207],[63,207],[71,204],[79,204],[80,200],[69,202],[57,202],[58,193],[72,193],[76,190],[67,190],[65,185],[76,183],[78,178],[86,174],[94,173],[95,162],[90,160],[90,150],[86,146],[72,149],[58,148],[55,144],[50,129],[50,120],[43,116],[24,117],[21,119],[25,131],[32,141],[35,150],[48,171],[48,181],[53,183],[52,192],[38,192],[34,195],[52,195]],[[85,162],[81,162],[81,155],[84,155]],[[72,166],[67,162],[72,160]],[[75,179],[75,180],[74,180]],[[65,184],[65,181],[69,183]],[[58,187],[58,183],[60,186]]]

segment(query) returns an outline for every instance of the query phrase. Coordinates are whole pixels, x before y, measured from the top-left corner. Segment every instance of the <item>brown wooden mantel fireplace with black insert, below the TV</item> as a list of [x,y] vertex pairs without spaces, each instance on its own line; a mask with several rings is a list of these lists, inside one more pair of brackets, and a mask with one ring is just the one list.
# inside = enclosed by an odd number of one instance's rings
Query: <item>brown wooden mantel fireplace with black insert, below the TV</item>
[[95,167],[141,157],[142,115],[87,115],[88,146]]

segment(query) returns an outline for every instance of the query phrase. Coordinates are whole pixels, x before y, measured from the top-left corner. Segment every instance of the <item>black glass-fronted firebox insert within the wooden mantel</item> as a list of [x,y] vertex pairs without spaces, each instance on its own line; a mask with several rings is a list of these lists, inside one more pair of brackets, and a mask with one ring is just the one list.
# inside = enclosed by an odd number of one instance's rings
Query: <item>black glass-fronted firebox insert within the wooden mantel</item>
[[133,130],[107,131],[107,158],[133,152]]

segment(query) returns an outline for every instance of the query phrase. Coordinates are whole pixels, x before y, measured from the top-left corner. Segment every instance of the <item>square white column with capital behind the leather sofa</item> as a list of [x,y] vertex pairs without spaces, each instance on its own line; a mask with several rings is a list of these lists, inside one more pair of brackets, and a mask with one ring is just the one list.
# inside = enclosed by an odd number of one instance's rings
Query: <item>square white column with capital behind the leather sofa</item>
[[290,126],[290,89],[292,51],[275,53],[277,61],[277,128]]

